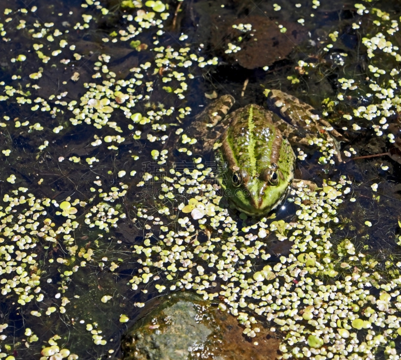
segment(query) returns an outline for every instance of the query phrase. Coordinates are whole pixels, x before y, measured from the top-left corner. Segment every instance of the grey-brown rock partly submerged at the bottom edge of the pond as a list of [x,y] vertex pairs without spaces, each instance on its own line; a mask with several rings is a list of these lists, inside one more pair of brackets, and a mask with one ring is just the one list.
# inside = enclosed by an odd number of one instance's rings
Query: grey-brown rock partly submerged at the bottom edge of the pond
[[246,338],[234,316],[194,294],[165,296],[153,307],[124,336],[124,360],[269,360],[278,354],[269,330]]

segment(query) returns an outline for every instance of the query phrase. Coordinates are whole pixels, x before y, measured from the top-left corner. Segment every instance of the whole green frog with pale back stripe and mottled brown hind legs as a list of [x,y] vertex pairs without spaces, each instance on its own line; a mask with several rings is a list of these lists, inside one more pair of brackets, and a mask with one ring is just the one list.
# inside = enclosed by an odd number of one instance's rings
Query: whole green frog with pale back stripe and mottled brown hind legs
[[270,90],[268,99],[272,111],[250,104],[228,114],[234,98],[224,95],[191,125],[196,133],[209,119],[214,131],[203,136],[203,151],[213,148],[224,195],[248,215],[266,215],[285,199],[296,161],[291,144],[310,144],[320,133],[341,161],[332,129],[312,106],[280,90]]

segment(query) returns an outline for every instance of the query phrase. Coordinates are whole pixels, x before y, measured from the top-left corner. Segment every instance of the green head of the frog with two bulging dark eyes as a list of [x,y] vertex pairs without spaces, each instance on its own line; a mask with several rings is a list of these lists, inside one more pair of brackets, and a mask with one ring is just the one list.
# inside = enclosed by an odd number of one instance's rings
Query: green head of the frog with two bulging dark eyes
[[293,166],[281,170],[270,164],[259,171],[247,167],[228,169],[220,179],[224,194],[234,206],[248,215],[266,215],[286,197],[293,179]]

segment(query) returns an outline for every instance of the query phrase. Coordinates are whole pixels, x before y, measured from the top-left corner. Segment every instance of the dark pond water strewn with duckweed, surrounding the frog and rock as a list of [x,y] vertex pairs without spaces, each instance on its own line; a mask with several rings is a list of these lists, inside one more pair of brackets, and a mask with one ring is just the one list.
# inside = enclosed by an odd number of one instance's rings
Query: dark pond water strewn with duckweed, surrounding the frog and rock
[[[3,0],[0,358],[121,358],[145,304],[177,290],[250,341],[274,330],[281,358],[399,358],[400,11]],[[224,94],[266,107],[267,89],[327,127],[294,147],[318,189],[261,218],[222,198],[189,125]]]

